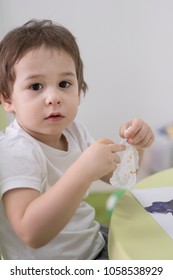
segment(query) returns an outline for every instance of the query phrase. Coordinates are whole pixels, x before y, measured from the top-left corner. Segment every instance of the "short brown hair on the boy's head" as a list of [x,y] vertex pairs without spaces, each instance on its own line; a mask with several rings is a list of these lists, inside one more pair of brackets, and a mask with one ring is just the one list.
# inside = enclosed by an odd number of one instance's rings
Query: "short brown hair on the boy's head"
[[87,84],[83,77],[83,62],[75,37],[65,27],[51,20],[31,20],[6,34],[0,42],[0,95],[11,98],[15,81],[14,65],[27,51],[45,45],[67,52],[74,60],[79,91],[84,94]]

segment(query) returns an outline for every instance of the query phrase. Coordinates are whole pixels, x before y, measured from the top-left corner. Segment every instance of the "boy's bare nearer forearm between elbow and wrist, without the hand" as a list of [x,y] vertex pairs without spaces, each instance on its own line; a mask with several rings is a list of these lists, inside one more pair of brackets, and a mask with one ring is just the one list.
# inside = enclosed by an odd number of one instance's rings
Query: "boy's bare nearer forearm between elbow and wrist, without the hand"
[[[23,216],[26,243],[40,247],[54,238],[68,223],[90,185],[83,174],[76,176],[76,166],[50,190],[32,201]],[[27,235],[28,233],[28,235]]]

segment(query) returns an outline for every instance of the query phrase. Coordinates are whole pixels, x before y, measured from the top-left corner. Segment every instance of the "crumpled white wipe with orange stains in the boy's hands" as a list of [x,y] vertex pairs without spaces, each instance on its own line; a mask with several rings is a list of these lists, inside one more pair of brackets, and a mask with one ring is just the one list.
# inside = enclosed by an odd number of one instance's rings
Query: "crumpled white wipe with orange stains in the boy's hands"
[[128,144],[123,139],[120,144],[126,146],[126,150],[119,152],[120,164],[110,179],[112,186],[130,189],[136,183],[136,171],[139,168],[139,154],[135,146]]

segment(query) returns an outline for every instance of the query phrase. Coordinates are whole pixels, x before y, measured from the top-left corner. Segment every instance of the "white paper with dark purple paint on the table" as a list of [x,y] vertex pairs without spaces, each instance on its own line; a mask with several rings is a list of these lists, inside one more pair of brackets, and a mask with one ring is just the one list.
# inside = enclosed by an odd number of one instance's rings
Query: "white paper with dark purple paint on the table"
[[165,232],[173,238],[173,186],[133,189],[131,192]]

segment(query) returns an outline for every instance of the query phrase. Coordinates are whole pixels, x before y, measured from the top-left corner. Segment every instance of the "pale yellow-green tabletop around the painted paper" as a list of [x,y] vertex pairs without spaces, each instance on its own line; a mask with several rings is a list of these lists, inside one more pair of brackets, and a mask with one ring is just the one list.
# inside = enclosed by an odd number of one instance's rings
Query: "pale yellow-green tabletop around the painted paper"
[[[173,168],[141,180],[134,188],[164,186],[173,186]],[[122,221],[125,223],[124,230]],[[146,241],[140,238],[144,234],[148,235]],[[159,246],[161,242],[164,244],[162,248]],[[117,260],[173,260],[173,240],[127,191],[116,205],[111,217],[108,251],[109,258]]]

